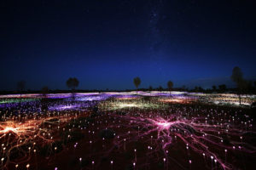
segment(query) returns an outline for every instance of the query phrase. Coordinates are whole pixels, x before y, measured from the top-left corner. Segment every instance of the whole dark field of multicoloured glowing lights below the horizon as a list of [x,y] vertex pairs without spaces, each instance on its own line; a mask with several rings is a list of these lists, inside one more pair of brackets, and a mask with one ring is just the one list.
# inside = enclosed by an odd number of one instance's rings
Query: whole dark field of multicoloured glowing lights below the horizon
[[254,169],[256,96],[0,96],[1,169]]

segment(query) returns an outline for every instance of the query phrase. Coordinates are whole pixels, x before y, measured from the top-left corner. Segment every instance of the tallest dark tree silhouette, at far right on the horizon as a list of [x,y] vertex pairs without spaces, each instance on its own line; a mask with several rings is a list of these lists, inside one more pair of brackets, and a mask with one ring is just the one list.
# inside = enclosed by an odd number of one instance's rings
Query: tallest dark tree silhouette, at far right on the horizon
[[235,66],[233,68],[230,78],[233,82],[236,82],[236,88],[239,96],[239,104],[241,105],[241,90],[245,86],[245,81],[243,80],[241,69],[238,66]]

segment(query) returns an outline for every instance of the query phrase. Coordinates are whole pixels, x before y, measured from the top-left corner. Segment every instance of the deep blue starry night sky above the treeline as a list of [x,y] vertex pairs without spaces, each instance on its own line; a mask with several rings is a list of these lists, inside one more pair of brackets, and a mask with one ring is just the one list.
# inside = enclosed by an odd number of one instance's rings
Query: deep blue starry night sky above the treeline
[[256,79],[252,1],[0,0],[0,90],[232,86]]

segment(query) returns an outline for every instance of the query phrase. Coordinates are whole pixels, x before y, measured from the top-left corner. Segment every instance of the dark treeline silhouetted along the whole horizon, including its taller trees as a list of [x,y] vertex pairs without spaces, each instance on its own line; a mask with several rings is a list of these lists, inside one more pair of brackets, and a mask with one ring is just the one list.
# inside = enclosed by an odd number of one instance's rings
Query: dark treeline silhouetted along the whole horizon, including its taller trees
[[[213,85],[212,88],[201,88],[200,86],[195,86],[195,88],[186,88],[183,86],[182,88],[173,88],[173,82],[170,80],[166,83],[167,88],[162,88],[160,85],[158,88],[153,88],[152,86],[149,86],[148,88],[139,88],[142,80],[140,77],[135,77],[133,79],[133,83],[136,87],[137,91],[186,91],[186,92],[196,92],[196,93],[232,93],[232,94],[238,94],[239,98],[241,100],[241,94],[256,94],[256,82],[248,81],[243,78],[243,73],[241,69],[238,66],[235,66],[232,70],[232,75],[230,79],[233,82],[236,82],[236,88],[227,88],[225,84],[220,84],[218,87],[216,85]],[[66,82],[67,88],[69,90],[51,90],[48,88],[48,86],[44,86],[41,90],[29,90],[26,89],[26,82],[21,80],[20,82],[17,82],[17,90],[15,91],[1,91],[0,94],[20,94],[20,99],[22,94],[43,94],[46,96],[47,94],[67,94],[67,93],[89,93],[89,92],[130,92],[134,91],[134,89],[126,89],[126,90],[114,90],[114,89],[108,89],[105,90],[81,90],[77,89],[79,87],[79,79],[76,77],[69,77]]]

